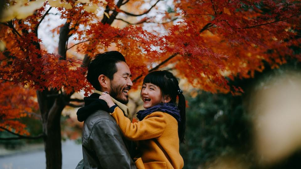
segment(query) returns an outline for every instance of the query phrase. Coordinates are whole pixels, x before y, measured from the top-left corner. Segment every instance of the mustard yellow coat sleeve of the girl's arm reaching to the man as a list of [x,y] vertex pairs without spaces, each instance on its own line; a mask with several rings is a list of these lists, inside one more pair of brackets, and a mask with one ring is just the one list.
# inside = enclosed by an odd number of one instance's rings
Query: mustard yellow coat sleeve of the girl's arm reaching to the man
[[111,113],[125,138],[129,140],[148,140],[162,135],[166,127],[166,118],[162,112],[153,112],[135,123],[126,118],[119,107]]

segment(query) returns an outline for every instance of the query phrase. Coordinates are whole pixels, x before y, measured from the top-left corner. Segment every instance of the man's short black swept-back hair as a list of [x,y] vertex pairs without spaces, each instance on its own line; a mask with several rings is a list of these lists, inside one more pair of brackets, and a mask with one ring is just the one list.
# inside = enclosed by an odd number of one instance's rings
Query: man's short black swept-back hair
[[125,59],[118,51],[97,54],[93,58],[88,67],[87,80],[96,90],[101,90],[98,81],[99,75],[103,74],[113,80],[114,74],[117,72],[116,63],[125,62]]

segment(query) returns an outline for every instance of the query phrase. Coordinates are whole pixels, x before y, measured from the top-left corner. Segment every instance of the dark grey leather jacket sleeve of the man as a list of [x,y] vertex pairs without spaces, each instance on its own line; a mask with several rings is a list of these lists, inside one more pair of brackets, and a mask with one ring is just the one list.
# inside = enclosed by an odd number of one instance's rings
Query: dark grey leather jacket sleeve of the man
[[102,168],[136,168],[120,130],[113,121],[98,120],[92,129],[88,144],[97,155]]

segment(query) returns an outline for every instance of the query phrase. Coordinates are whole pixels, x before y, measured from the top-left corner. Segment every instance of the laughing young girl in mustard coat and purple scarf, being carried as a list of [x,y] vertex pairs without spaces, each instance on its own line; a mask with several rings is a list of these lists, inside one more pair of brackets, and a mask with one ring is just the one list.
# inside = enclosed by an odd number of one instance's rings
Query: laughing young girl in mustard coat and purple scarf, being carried
[[131,123],[107,93],[99,99],[107,102],[125,138],[139,141],[137,168],[183,168],[179,143],[184,141],[186,104],[177,78],[166,70],[151,72],[143,80],[140,96],[146,110],[137,113],[137,123]]

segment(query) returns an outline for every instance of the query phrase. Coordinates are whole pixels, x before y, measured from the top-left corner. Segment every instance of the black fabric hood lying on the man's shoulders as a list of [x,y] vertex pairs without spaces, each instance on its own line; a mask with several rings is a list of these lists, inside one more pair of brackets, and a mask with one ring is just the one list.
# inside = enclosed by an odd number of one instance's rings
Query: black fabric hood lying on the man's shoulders
[[87,119],[89,115],[97,110],[109,111],[107,102],[99,98],[99,94],[93,93],[89,97],[84,97],[85,106],[77,110],[77,120],[82,122]]

